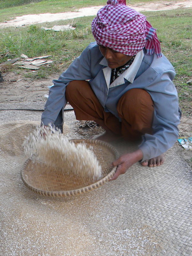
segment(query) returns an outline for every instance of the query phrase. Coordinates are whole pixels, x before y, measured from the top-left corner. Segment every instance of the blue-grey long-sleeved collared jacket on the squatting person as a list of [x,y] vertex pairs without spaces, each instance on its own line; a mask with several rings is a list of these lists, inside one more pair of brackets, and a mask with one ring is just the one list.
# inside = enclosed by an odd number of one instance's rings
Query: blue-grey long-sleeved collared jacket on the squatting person
[[[175,71],[171,63],[163,55],[157,58],[154,53],[147,55],[145,49],[135,56],[132,65],[110,85],[111,68],[103,58],[96,42],[82,52],[64,71],[58,80],[53,80],[49,98],[42,114],[42,123],[54,124],[60,110],[66,106],[65,88],[73,80],[90,80],[89,84],[106,112],[111,112],[119,121],[117,103],[122,95],[133,89],[146,90],[154,102],[153,131],[154,134],[142,136],[139,148],[143,159],[161,155],[178,138],[178,124],[181,112],[178,96],[172,80]],[[55,123],[56,124],[56,123]]]

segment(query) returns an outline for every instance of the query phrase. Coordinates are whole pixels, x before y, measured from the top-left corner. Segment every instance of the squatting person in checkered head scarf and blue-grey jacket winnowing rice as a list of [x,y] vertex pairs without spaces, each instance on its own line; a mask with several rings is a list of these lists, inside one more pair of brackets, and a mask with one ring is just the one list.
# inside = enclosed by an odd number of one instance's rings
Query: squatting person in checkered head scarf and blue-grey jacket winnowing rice
[[42,115],[42,124],[61,129],[69,102],[77,120],[93,120],[105,129],[97,139],[142,138],[138,150],[113,162],[112,180],[137,161],[149,167],[163,164],[164,152],[178,138],[175,72],[155,30],[125,1],[108,0],[92,22],[96,42],[53,80]]

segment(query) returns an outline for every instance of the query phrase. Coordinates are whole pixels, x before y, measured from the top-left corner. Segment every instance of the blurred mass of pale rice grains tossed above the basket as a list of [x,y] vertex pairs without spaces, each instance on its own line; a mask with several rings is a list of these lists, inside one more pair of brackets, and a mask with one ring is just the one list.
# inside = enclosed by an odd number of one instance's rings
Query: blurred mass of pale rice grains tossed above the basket
[[91,148],[84,143],[74,143],[59,131],[37,128],[24,142],[25,153],[33,160],[40,161],[63,174],[73,173],[81,178],[92,180],[101,176],[101,166]]

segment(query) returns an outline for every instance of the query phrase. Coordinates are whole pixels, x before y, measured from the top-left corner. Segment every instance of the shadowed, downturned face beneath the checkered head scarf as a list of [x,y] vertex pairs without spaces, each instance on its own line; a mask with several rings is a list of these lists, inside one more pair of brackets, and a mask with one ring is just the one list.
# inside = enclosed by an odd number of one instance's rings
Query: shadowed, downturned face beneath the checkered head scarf
[[126,64],[133,56],[125,55],[121,52],[116,52],[111,48],[99,45],[100,52],[105,57],[109,68],[118,68]]

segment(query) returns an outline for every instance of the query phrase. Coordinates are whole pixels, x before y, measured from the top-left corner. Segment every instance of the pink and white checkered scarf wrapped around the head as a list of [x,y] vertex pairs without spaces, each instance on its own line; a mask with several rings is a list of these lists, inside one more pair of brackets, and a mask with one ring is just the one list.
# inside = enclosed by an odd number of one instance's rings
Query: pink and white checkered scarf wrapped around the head
[[92,21],[92,34],[97,44],[125,55],[134,56],[144,47],[147,54],[162,57],[156,29],[146,17],[126,6],[126,0],[108,0]]

